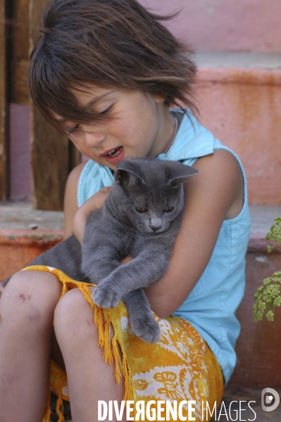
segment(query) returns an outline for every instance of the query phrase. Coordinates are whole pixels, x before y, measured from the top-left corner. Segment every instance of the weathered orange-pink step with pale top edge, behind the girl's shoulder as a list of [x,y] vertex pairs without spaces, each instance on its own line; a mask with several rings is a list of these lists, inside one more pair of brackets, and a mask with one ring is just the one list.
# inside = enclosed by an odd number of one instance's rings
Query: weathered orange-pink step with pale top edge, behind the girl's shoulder
[[249,203],[281,205],[281,54],[199,52],[201,122],[242,159]]

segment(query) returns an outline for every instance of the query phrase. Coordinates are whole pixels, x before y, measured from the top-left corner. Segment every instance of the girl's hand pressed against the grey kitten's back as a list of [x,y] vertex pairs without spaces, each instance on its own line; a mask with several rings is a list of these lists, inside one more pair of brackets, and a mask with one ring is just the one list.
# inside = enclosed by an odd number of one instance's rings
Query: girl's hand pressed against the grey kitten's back
[[106,199],[110,189],[110,186],[101,188],[75,212],[75,216],[73,218],[73,233],[80,243],[82,243],[87,216],[90,212],[103,207],[104,200]]

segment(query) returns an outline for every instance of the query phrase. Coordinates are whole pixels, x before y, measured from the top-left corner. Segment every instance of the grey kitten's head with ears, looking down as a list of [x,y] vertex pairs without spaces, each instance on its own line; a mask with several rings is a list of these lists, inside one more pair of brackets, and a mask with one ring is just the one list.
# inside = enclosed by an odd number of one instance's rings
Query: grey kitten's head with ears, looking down
[[197,172],[157,158],[124,160],[115,171],[116,211],[143,234],[162,233],[183,210],[183,182]]

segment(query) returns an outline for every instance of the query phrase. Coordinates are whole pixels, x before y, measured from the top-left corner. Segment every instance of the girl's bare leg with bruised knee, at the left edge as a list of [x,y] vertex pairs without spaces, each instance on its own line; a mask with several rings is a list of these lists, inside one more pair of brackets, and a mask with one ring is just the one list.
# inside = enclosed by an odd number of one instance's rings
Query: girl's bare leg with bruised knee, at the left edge
[[55,276],[21,271],[0,300],[1,422],[42,421],[49,394],[54,309],[61,295]]

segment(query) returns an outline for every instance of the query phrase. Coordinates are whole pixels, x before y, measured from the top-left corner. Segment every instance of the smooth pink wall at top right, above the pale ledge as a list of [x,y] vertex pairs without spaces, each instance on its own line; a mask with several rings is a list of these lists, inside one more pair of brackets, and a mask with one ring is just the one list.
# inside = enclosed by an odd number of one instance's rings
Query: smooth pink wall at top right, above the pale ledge
[[139,0],[159,14],[179,11],[172,32],[204,51],[281,52],[280,0]]

